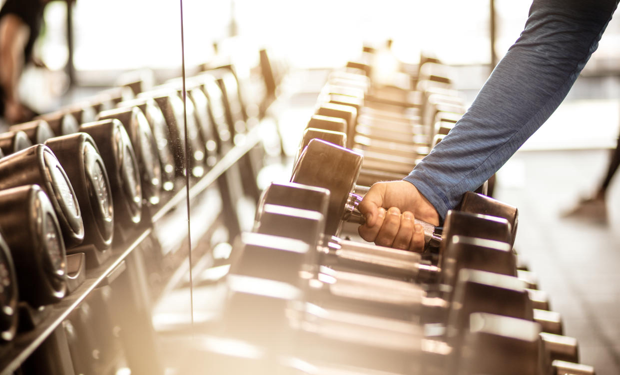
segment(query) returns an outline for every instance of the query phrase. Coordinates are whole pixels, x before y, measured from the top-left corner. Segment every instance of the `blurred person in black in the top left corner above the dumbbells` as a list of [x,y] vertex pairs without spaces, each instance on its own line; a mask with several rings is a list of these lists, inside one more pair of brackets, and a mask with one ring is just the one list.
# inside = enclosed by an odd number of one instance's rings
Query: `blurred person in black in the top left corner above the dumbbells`
[[9,124],[36,114],[19,98],[19,78],[33,58],[33,47],[43,24],[43,9],[50,0],[6,0],[0,9],[0,116]]

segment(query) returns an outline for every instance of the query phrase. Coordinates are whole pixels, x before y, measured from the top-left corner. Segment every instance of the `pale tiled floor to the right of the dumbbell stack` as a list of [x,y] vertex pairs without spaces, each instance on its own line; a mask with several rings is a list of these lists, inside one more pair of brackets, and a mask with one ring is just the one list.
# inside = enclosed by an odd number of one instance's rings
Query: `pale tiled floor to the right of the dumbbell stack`
[[497,198],[520,209],[516,248],[538,274],[581,362],[620,374],[620,179],[608,192],[608,224],[560,213],[595,188],[608,151],[523,151],[498,174]]

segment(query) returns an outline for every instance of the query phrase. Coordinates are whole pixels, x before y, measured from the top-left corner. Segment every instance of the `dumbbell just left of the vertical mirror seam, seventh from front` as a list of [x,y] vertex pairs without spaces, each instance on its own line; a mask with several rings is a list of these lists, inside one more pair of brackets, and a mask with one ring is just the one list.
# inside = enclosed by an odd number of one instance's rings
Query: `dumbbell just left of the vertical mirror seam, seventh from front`
[[146,120],[151,127],[153,138],[157,146],[157,153],[159,155],[159,170],[161,171],[161,187],[164,191],[173,191],[175,185],[175,161],[174,155],[172,155],[172,148],[170,144],[168,125],[166,119],[161,112],[161,109],[157,105],[154,99],[141,97],[131,99],[130,101],[120,102],[120,107],[138,107],[146,117]]

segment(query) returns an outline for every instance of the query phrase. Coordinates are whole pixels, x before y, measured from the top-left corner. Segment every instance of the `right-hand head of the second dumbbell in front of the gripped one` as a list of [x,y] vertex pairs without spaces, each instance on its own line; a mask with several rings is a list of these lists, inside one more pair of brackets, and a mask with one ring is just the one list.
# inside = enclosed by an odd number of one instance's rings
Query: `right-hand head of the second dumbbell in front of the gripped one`
[[508,243],[467,236],[453,236],[445,249],[443,284],[454,287],[464,268],[516,276],[516,254]]

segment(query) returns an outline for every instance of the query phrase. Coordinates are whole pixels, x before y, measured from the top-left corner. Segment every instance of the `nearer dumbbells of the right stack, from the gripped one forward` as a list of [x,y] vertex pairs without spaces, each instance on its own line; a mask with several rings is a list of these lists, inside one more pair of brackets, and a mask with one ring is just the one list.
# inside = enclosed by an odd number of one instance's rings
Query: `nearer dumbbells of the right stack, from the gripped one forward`
[[[339,117],[315,115],[310,124],[343,124]],[[423,224],[423,255],[334,237],[345,220],[363,220],[352,192],[364,190],[356,186],[364,158],[342,147],[350,129],[335,144],[306,130],[291,183],[263,193],[256,233],[232,256],[223,314],[225,335],[261,355],[218,353],[211,365],[233,373],[593,373],[577,364],[576,340],[561,335],[559,315],[518,269],[515,207],[466,194],[443,232]]]

